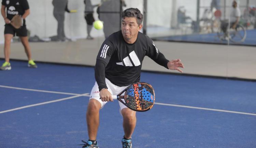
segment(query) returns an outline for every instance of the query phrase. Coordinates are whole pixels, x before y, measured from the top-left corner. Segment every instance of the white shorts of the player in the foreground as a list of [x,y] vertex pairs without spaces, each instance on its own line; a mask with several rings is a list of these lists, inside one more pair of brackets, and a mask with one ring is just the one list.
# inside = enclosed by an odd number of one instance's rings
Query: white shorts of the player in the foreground
[[[108,79],[105,78],[106,81],[106,85],[108,87],[108,91],[112,94],[112,95],[118,95],[120,92],[122,92],[126,87],[128,86],[116,86],[113,83],[111,83]],[[107,103],[107,101],[102,101],[100,99],[100,92],[99,92],[99,86],[97,84],[97,82],[95,82],[93,89],[91,89],[91,94],[90,94],[90,99],[96,99],[101,103],[101,109],[103,108],[103,106]],[[117,101],[117,100],[116,100]],[[123,100],[124,101],[124,100]],[[127,106],[125,106],[123,103],[121,103],[120,101],[118,101],[119,106],[120,106],[120,113],[122,111],[122,109],[127,108]]]

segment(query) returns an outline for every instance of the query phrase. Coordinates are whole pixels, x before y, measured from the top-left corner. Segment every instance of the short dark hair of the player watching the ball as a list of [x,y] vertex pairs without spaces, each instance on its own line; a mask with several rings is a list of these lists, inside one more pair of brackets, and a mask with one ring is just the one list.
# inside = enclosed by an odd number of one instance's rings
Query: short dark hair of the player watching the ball
[[138,25],[142,23],[143,15],[138,8],[128,8],[122,12],[122,19],[125,17],[135,17]]

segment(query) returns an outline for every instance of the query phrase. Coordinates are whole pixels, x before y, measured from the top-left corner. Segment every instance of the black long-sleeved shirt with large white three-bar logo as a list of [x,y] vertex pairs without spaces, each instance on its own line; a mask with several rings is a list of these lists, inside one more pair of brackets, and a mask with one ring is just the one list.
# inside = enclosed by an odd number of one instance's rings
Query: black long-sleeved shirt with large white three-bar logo
[[[160,53],[151,38],[139,32],[137,40],[133,44],[128,44],[125,42],[122,32],[118,31],[105,39],[98,53],[97,61],[106,65],[105,78],[117,86],[127,86],[140,81],[141,66],[145,56],[168,68],[169,60],[166,60]],[[97,67],[96,62],[95,77],[99,88],[106,86],[102,70],[104,71]]]

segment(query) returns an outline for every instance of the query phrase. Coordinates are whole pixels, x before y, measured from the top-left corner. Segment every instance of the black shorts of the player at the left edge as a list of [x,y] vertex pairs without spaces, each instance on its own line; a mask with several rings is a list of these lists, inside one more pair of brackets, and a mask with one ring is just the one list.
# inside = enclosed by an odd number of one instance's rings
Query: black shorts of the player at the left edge
[[13,34],[13,36],[28,36],[28,30],[25,26],[15,29],[11,24],[5,24],[4,34]]

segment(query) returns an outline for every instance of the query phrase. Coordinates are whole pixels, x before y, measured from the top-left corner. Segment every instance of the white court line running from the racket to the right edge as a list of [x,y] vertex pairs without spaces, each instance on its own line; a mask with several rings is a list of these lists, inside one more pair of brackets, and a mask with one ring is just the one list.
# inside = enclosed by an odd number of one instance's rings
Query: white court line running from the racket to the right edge
[[208,108],[198,108],[193,106],[185,106],[185,105],[175,105],[175,104],[165,104],[165,103],[155,103],[158,105],[166,105],[166,106],[176,106],[180,108],[190,108],[190,109],[199,109],[199,110],[208,110],[208,111],[217,111],[217,112],[227,112],[227,113],[235,113],[235,114],[244,114],[244,115],[253,115],[256,116],[256,114],[252,113],[244,113],[244,112],[234,112],[234,111],[227,111],[227,110],[217,110],[217,109],[208,109]]

